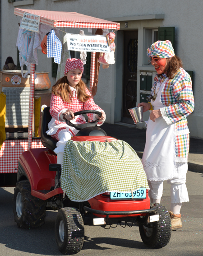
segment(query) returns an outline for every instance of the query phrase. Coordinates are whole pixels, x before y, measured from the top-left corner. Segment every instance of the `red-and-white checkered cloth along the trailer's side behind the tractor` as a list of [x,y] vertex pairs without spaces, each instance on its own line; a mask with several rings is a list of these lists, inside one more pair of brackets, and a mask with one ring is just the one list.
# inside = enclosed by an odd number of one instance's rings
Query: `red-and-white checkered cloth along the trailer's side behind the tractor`
[[[44,148],[41,140],[32,141],[32,149]],[[18,158],[28,150],[28,140],[5,140],[0,150],[0,173],[18,172]]]

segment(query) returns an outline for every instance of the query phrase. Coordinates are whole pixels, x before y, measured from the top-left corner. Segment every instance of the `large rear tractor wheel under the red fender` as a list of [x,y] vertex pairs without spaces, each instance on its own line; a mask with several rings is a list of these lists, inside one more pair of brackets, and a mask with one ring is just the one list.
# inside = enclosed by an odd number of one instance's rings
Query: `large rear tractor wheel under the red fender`
[[37,228],[44,224],[46,201],[31,195],[30,183],[20,181],[14,188],[14,220],[20,228]]

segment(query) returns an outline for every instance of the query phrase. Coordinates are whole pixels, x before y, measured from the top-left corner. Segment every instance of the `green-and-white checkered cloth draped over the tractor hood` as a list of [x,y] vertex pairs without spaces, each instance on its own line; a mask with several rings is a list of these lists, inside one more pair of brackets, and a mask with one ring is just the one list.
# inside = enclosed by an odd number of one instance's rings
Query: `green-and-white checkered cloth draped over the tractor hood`
[[73,141],[65,146],[61,188],[72,201],[87,201],[105,192],[148,188],[143,165],[131,146],[111,142]]

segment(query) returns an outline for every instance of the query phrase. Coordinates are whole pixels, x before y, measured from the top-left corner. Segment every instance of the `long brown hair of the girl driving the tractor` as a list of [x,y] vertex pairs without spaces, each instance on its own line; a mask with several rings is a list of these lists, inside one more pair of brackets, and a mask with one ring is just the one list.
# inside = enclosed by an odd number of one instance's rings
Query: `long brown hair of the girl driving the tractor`
[[[81,102],[86,102],[90,95],[86,93],[86,84],[80,79],[79,83],[76,85],[77,97]],[[51,92],[56,96],[60,96],[63,101],[70,103],[73,93],[69,88],[69,81],[66,76],[63,76],[61,79],[57,80],[55,85],[52,87]]]

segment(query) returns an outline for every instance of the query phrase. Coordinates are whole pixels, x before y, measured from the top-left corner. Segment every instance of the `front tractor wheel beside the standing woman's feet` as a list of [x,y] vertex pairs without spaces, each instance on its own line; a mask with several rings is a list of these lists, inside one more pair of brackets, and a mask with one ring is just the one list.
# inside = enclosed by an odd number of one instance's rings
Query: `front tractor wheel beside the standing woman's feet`
[[159,205],[155,214],[159,214],[159,221],[148,224],[139,223],[139,233],[147,247],[162,248],[171,239],[171,217],[163,205]]

